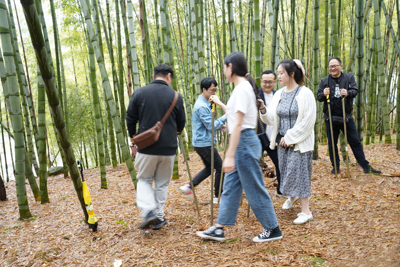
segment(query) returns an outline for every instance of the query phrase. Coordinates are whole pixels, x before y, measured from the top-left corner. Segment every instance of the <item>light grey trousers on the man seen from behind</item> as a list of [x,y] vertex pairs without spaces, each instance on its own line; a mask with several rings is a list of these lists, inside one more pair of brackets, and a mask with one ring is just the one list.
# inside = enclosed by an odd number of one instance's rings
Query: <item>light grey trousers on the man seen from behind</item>
[[142,217],[152,210],[157,218],[162,219],[174,159],[175,155],[160,156],[136,153],[134,162],[134,167],[138,170],[136,204]]

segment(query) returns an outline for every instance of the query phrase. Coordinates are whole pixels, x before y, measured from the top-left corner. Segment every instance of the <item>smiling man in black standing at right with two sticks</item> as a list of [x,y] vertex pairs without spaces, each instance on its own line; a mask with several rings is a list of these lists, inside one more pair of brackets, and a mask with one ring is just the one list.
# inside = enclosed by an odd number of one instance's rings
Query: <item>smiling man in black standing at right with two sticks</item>
[[[328,62],[328,68],[330,74],[321,79],[316,98],[319,102],[323,102],[323,118],[325,119],[326,125],[326,137],[328,139],[329,147],[329,158],[333,166],[331,173],[334,174],[334,163],[333,163],[333,152],[332,152],[332,140],[330,136],[330,125],[329,125],[329,114],[327,108],[326,96],[329,94],[330,100],[330,111],[332,116],[332,130],[333,130],[333,147],[336,158],[336,170],[339,172],[339,153],[337,150],[337,138],[339,131],[344,132],[343,125],[343,111],[341,98],[344,97],[344,110],[346,117],[346,130],[347,130],[347,142],[353,151],[354,157],[358,164],[364,169],[364,173],[380,173],[378,170],[374,170],[369,162],[365,159],[364,151],[361,146],[361,142],[358,138],[357,129],[355,128],[354,119],[352,117],[353,112],[353,99],[358,93],[357,84],[355,83],[354,76],[351,73],[341,72],[343,65],[339,58],[331,58]],[[338,121],[334,123],[335,119]],[[340,121],[341,118],[341,121]]]

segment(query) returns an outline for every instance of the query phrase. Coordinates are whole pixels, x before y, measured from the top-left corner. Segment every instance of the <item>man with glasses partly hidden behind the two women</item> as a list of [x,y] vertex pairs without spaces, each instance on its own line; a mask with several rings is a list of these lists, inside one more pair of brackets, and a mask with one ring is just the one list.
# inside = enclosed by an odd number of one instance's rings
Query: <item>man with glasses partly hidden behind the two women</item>
[[[259,97],[264,101],[265,107],[268,107],[269,103],[272,100],[273,94],[275,94],[275,90],[273,88],[276,84],[276,74],[271,70],[266,70],[261,73],[261,88],[259,90]],[[279,162],[278,162],[278,154],[277,154],[277,146],[275,149],[269,148],[269,142],[272,133],[272,125],[266,125],[265,123],[258,120],[257,126],[257,134],[262,132],[262,128],[265,130],[265,135],[268,140],[268,144],[264,145],[262,151],[266,151],[269,157],[271,158],[273,165],[275,165],[276,170],[276,180],[278,181],[278,185],[276,186],[276,192],[278,196],[282,196],[282,193],[279,190],[280,187],[280,171],[279,171]]]

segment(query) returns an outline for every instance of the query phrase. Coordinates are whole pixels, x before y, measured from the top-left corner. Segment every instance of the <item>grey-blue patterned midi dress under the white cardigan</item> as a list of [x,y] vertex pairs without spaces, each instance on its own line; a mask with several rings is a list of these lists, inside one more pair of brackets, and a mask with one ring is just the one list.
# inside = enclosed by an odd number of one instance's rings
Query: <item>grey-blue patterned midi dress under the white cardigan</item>
[[[280,118],[278,132],[282,136],[296,123],[298,106],[295,97],[299,91],[293,90],[289,93],[283,91],[280,96],[276,113]],[[283,148],[278,145],[280,192],[285,196],[310,197],[312,151],[300,153],[300,151],[294,151],[294,146],[295,144]]]

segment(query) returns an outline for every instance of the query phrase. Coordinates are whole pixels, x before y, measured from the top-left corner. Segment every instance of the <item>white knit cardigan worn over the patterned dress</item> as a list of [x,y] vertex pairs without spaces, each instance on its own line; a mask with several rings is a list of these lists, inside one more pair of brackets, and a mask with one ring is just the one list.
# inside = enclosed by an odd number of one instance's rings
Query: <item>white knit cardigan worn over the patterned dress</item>
[[[271,140],[275,140],[278,133],[279,116],[276,113],[276,109],[284,88],[278,90],[273,95],[271,103],[266,108],[266,113],[261,114],[260,112],[261,120],[268,125],[273,125]],[[308,87],[302,86],[296,96],[296,101],[298,106],[296,123],[291,129],[286,131],[283,139],[288,145],[294,144],[294,151],[304,153],[314,149],[315,97]],[[272,141],[269,148],[274,149],[275,145],[276,143]]]

